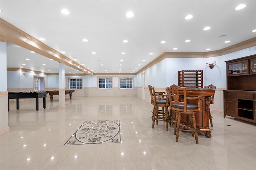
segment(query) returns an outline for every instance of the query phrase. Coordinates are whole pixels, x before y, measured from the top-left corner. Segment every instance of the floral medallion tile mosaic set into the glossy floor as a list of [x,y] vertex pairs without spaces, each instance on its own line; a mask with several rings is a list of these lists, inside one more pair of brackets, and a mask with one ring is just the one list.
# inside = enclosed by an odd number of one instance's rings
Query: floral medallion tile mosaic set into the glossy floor
[[119,120],[84,121],[64,145],[121,143]]

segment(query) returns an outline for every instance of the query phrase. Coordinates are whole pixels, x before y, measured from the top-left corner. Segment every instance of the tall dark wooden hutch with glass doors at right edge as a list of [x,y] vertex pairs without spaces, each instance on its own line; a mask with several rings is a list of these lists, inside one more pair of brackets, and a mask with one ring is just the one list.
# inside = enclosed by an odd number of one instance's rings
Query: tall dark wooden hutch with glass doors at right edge
[[256,123],[256,55],[226,61],[226,115]]

